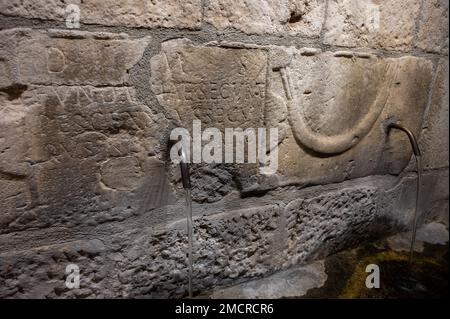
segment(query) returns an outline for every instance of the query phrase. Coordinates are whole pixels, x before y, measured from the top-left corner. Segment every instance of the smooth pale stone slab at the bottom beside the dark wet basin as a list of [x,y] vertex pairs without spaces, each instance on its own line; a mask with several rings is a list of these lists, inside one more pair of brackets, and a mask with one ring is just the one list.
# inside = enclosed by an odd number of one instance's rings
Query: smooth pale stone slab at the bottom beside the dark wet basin
[[316,261],[306,266],[297,266],[280,271],[263,279],[241,285],[218,289],[210,296],[213,299],[279,299],[301,297],[308,290],[323,286],[327,280],[325,264]]

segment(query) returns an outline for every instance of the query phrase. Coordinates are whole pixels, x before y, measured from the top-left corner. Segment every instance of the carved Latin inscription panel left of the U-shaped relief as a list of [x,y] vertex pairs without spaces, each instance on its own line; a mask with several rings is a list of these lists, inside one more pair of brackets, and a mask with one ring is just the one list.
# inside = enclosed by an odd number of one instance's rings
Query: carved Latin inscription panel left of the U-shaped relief
[[189,127],[261,127],[267,56],[263,50],[195,47],[174,40],[152,59],[152,90]]

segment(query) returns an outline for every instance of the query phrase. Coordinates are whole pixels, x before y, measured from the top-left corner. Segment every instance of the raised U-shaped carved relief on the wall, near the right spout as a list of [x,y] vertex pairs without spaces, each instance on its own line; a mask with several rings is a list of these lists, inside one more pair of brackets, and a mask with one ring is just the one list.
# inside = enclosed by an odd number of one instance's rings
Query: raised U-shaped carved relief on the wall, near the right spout
[[[364,70],[363,76],[366,78],[370,79],[373,76],[377,76],[371,74],[374,69],[362,69]],[[345,130],[341,130],[342,133],[338,132],[337,134],[323,134],[320,132],[320,130],[313,129],[313,127],[311,126],[311,124],[314,124],[311,123],[313,121],[310,121],[308,123],[308,120],[305,116],[306,111],[304,100],[302,99],[302,96],[300,96],[301,94],[296,92],[296,90],[294,90],[292,86],[290,68],[288,66],[280,68],[281,78],[286,93],[289,123],[297,142],[317,153],[329,155],[345,152],[357,145],[358,142],[370,132],[376,120],[383,111],[383,108],[389,97],[390,87],[393,84],[395,75],[397,73],[395,63],[383,62],[380,65],[379,69],[381,69],[381,72],[378,72],[378,78],[384,80],[379,82],[374,81],[374,85],[376,85],[377,87],[374,88],[374,90],[376,91],[374,91],[375,93],[373,97],[369,96],[367,98],[364,96],[364,90],[356,90],[356,100],[361,104],[366,104],[364,106],[366,108],[365,114],[363,114],[356,121],[356,123],[348,123],[349,125],[347,125],[347,123],[341,123],[341,126],[346,127]],[[361,85],[365,84],[361,83]],[[345,83],[343,83],[342,86],[344,87],[343,90],[345,90]],[[358,89],[358,86],[356,86],[356,89]],[[344,98],[340,101],[334,102],[334,104],[344,103],[344,105],[346,106],[351,98],[348,97],[349,94],[347,94],[346,92],[344,92],[344,94],[342,95],[344,96]],[[353,95],[353,99],[355,100],[355,92],[351,92],[350,95]],[[343,110],[339,110],[338,108],[337,112],[351,112],[351,110],[351,107],[344,108]],[[332,108],[329,110],[329,112],[333,111],[336,110],[333,110]],[[336,121],[338,121],[340,119],[339,115],[337,115],[336,117]],[[344,116],[343,118],[345,119],[346,117]],[[333,123],[331,121],[327,123],[325,121],[322,126],[332,126],[334,124],[336,123]]]

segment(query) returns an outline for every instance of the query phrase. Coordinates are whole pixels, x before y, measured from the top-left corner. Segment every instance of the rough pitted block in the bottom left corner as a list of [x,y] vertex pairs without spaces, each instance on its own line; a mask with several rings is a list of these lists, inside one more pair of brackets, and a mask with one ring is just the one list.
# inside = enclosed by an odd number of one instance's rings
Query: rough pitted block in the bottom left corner
[[[107,265],[105,252],[105,245],[92,239],[3,253],[0,255],[0,296],[101,298],[104,291],[100,284],[106,282],[109,275],[109,269],[104,267]],[[69,265],[78,267],[79,288],[66,286],[67,275],[72,273],[66,273]]]

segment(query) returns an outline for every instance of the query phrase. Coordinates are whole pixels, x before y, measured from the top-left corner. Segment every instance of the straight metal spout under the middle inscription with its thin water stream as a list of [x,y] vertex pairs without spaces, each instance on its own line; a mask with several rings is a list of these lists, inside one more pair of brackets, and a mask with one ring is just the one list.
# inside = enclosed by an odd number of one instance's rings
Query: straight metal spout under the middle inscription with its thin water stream
[[180,149],[181,160],[181,181],[185,191],[186,199],[186,222],[188,234],[188,291],[189,298],[192,298],[192,274],[193,274],[193,227],[192,227],[192,198],[191,198],[191,176],[189,172],[189,161],[183,148]]

